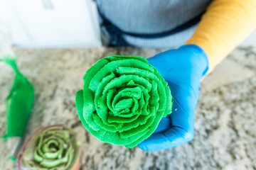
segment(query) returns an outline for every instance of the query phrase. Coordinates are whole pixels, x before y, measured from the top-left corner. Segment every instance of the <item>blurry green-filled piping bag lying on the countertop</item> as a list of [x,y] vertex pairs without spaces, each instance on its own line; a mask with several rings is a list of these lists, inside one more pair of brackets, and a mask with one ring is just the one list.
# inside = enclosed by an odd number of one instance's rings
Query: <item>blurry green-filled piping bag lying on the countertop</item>
[[6,135],[3,136],[10,149],[9,157],[15,161],[31,114],[34,92],[32,84],[18,71],[14,58],[5,55],[0,62],[8,64],[16,74],[10,94],[6,98],[7,130]]

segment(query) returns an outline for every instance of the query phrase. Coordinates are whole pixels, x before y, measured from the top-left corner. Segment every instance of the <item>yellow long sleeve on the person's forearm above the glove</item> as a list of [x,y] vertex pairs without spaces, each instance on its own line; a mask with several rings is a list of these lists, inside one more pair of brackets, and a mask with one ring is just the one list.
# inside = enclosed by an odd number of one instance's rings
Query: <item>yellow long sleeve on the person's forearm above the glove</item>
[[186,44],[200,46],[213,70],[255,27],[256,0],[215,0]]

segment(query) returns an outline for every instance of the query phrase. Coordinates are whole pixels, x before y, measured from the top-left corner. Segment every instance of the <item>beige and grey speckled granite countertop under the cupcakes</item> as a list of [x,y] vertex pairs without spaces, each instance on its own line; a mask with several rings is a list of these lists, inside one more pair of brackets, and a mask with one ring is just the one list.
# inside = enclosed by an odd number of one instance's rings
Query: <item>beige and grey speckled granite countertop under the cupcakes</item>
[[[18,67],[35,89],[26,136],[41,125],[63,123],[82,142],[80,169],[256,169],[256,47],[240,47],[203,80],[192,142],[144,152],[100,142],[83,128],[75,109],[82,76],[108,55],[151,57],[163,50],[121,48],[31,50],[14,48]],[[0,63],[0,135],[5,133],[5,98],[14,74]],[[26,96],[24,96],[26,97]],[[0,169],[15,169],[0,140]]]

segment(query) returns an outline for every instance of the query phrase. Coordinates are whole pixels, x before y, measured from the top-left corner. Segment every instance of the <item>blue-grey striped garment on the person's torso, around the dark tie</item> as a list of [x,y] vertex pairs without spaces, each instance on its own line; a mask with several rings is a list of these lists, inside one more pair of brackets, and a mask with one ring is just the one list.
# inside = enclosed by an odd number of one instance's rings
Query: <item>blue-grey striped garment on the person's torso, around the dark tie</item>
[[[205,11],[210,1],[96,0],[100,12],[115,26],[129,33],[146,34],[161,33],[186,23]],[[195,29],[196,25],[161,38],[124,35],[124,40],[138,47],[179,47],[191,38]]]

